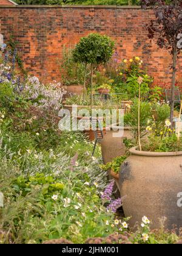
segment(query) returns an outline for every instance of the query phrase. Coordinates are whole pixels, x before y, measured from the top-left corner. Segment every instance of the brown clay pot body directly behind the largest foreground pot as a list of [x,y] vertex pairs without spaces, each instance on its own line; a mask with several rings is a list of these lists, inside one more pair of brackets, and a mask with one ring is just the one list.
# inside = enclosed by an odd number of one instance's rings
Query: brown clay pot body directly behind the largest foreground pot
[[115,128],[116,124],[111,126],[111,130],[104,132],[104,138],[101,143],[104,165],[112,162],[113,158],[124,155],[126,152],[126,146],[123,143],[123,139],[132,138],[130,127],[124,127],[122,137],[115,137],[115,135],[118,134],[118,132],[114,130]]

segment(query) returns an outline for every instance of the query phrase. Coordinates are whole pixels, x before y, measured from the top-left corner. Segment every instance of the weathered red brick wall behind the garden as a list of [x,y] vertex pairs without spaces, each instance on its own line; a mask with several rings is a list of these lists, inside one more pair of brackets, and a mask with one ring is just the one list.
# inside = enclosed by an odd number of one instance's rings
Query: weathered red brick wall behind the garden
[[[42,82],[59,80],[57,64],[62,48],[77,43],[90,32],[110,35],[116,41],[121,59],[138,55],[155,84],[169,82],[171,57],[166,50],[149,44],[146,23],[152,10],[114,7],[0,7],[0,33],[8,41],[19,41],[25,68]],[[178,71],[182,59],[178,60]],[[181,72],[177,79],[182,82]]]

